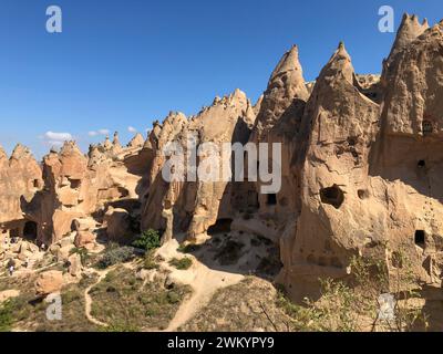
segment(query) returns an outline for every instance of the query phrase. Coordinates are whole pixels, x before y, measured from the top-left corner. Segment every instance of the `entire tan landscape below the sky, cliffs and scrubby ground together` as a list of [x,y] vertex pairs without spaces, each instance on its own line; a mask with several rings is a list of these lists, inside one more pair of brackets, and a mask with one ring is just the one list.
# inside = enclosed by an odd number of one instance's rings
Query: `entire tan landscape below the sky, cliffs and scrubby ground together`
[[[441,331],[441,53],[443,21],[404,14],[381,75],[358,75],[340,42],[307,83],[293,45],[256,104],[236,90],[86,155],[0,148],[1,329]],[[281,164],[244,154],[279,167],[281,188],[265,194],[249,168],[240,183],[166,181],[171,143],[186,157],[281,144]],[[131,247],[150,230],[163,247]],[[48,322],[54,293],[64,316]],[[382,294],[396,300],[388,323]]]

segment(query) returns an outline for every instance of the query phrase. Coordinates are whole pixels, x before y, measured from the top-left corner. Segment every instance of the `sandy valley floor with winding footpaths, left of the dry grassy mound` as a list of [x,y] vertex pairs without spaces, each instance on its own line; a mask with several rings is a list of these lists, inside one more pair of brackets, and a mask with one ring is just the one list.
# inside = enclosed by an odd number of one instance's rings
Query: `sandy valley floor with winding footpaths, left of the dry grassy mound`
[[[76,248],[72,236],[47,251],[24,240],[8,244],[6,254],[14,259],[16,269],[10,275],[7,263],[2,268],[0,326],[4,331],[178,331],[233,287],[259,284],[270,298],[275,295],[270,279],[280,263],[271,241],[244,231],[207,236],[197,244],[181,244],[184,237],[177,236],[150,258],[138,253],[105,269],[99,264],[107,250],[124,246],[96,244],[86,250]],[[25,253],[32,260],[28,267],[19,261],[24,249],[33,250]],[[267,257],[270,252],[276,256],[274,263]],[[61,294],[61,321],[47,319],[45,299],[53,293]],[[266,314],[258,319],[266,327]]]

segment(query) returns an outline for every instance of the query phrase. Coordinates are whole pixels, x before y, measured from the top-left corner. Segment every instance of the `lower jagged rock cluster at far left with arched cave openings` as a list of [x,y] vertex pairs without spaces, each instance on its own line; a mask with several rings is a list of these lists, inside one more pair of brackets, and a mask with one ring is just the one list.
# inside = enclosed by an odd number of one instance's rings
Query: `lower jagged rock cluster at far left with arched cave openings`
[[137,135],[122,147],[115,134],[113,143],[106,138],[85,156],[75,142],[66,142],[44,156],[42,167],[21,145],[10,159],[1,149],[0,230],[45,244],[78,232],[78,243],[87,244],[105,232],[107,208],[123,208],[140,222],[140,192],[150,166],[143,145]]

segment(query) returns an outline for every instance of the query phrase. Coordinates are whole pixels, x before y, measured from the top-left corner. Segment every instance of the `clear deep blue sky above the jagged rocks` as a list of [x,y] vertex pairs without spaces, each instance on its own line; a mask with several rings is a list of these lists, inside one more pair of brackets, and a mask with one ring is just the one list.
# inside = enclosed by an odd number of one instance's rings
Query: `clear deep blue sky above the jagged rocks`
[[[45,31],[60,6],[63,32]],[[241,88],[253,100],[280,56],[300,48],[315,80],[340,40],[359,73],[378,73],[394,33],[378,31],[378,10],[443,18],[441,0],[1,0],[0,144],[38,157],[47,132],[70,133],[83,148],[119,131],[126,142],[169,111],[194,114]]]

